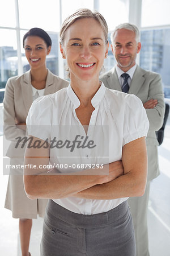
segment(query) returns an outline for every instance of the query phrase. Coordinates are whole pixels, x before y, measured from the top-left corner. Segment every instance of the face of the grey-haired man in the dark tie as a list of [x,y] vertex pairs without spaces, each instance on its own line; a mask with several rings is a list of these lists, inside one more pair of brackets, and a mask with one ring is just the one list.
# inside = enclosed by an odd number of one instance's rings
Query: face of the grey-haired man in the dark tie
[[112,52],[118,67],[127,72],[135,65],[137,53],[141,50],[141,43],[135,40],[135,32],[121,28],[114,35]]

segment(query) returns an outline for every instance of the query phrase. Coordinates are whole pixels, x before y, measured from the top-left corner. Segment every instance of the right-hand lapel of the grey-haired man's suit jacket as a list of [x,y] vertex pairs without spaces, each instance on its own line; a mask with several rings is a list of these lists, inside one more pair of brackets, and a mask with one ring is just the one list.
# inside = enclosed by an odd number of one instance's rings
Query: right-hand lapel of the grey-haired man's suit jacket
[[135,95],[138,94],[139,90],[145,82],[145,77],[143,75],[145,75],[145,71],[137,65],[133,79],[131,80],[129,93],[133,93]]

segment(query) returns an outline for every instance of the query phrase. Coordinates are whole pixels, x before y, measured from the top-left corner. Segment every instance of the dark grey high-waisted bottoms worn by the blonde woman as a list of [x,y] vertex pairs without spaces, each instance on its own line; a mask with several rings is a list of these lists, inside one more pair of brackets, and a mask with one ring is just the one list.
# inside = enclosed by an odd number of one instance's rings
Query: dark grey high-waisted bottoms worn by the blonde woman
[[106,213],[83,215],[49,200],[41,256],[135,256],[134,228],[127,201]]

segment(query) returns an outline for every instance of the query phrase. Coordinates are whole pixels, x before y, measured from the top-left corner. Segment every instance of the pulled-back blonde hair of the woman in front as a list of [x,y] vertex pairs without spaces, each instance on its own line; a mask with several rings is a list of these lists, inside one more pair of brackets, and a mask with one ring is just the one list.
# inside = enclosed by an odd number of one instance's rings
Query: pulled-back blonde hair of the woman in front
[[98,12],[92,12],[89,9],[79,9],[74,14],[70,15],[65,19],[62,23],[61,30],[59,32],[60,43],[63,44],[65,40],[65,32],[67,28],[69,28],[76,20],[83,19],[83,18],[93,18],[99,22],[101,28],[103,29],[104,36],[105,36],[105,43],[108,43],[108,25],[105,21],[104,17]]

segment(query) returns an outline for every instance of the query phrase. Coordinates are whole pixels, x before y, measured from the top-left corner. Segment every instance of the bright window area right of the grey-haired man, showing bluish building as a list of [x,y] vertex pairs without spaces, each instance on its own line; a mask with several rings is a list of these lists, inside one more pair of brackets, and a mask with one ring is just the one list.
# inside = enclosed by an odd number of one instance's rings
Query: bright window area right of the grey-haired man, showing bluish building
[[165,98],[170,98],[170,1],[142,0],[140,65],[162,76]]

